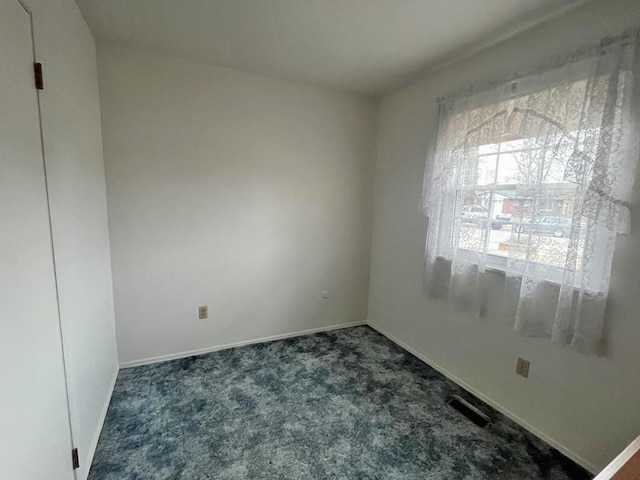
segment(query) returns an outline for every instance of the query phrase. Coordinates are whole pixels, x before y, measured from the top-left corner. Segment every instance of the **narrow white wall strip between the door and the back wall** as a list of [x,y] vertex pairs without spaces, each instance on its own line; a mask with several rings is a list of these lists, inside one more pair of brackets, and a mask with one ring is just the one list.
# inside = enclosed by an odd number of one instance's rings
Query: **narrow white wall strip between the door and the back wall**
[[118,369],[95,42],[73,0],[26,0],[36,54],[73,440],[85,478]]

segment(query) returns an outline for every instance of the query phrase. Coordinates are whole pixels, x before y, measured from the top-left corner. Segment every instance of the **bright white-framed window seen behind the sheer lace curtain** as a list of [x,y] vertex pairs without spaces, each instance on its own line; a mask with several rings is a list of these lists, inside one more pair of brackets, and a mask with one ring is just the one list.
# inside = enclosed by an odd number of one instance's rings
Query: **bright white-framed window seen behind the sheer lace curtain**
[[[607,78],[599,81],[605,89]],[[587,81],[580,80],[472,112],[487,120],[461,132],[452,152],[460,181],[448,192],[454,196],[453,215],[440,256],[452,258],[452,250],[458,249],[468,262],[484,261],[485,267],[503,271],[509,260],[525,261],[535,266],[529,270],[538,278],[562,282],[567,255],[573,251],[580,277],[587,225],[579,202],[588,185],[575,181],[572,162],[586,144],[597,150],[600,128],[583,124],[579,130],[579,119],[553,118],[544,104],[532,103],[556,97],[564,105],[579,104],[588,88]],[[532,96],[537,102],[531,102]],[[587,179],[584,176],[585,183]],[[594,248],[592,253],[599,255],[598,245]]]

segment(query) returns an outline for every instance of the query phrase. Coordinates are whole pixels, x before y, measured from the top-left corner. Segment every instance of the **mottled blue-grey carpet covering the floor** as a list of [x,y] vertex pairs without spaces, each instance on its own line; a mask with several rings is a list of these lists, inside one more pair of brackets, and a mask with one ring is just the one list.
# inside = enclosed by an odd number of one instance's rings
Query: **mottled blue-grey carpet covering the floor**
[[[445,404],[459,394],[492,418]],[[90,480],[586,479],[369,327],[122,370]]]

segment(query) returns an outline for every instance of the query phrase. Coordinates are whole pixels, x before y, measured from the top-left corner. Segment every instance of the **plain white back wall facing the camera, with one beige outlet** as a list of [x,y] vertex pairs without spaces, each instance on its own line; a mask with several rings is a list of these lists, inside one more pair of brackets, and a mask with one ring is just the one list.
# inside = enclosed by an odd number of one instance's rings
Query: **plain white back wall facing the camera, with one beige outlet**
[[98,58],[121,362],[366,320],[373,102]]

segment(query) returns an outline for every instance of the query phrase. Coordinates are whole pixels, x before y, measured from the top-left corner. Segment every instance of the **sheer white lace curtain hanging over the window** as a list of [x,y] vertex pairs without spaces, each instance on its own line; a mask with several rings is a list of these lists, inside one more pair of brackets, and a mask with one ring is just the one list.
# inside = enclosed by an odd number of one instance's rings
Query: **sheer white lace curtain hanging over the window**
[[440,100],[423,191],[430,295],[479,315],[486,269],[503,271],[516,329],[599,352],[639,158],[638,38]]

